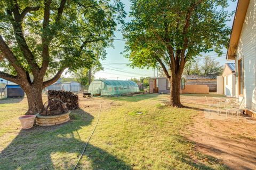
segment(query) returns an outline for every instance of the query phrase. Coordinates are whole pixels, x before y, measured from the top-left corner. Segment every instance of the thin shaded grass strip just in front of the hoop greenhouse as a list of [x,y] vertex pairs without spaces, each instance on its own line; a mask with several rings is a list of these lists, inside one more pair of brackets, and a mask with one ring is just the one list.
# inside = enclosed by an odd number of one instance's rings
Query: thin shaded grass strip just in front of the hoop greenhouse
[[125,102],[138,102],[141,100],[147,100],[151,98],[156,98],[159,94],[141,94],[137,96],[114,96],[114,97],[101,97],[103,99],[115,100],[115,101],[125,101]]

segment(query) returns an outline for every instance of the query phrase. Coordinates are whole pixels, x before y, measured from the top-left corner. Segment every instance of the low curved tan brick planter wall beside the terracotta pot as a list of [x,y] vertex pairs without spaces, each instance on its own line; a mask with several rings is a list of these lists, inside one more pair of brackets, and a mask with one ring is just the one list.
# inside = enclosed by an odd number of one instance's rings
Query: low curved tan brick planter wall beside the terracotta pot
[[55,116],[42,116],[42,115],[36,114],[36,124],[38,126],[59,125],[59,124],[68,122],[69,114],[70,114],[70,111],[68,111],[66,114],[55,115]]

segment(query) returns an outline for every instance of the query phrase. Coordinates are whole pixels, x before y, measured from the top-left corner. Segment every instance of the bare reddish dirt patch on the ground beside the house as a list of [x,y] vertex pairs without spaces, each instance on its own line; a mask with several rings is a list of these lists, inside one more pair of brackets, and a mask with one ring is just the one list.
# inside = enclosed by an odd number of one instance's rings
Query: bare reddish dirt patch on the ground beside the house
[[[188,130],[188,139],[195,143],[196,151],[220,159],[230,169],[256,169],[256,125],[242,120],[205,119],[201,101],[197,108],[198,115]],[[185,102],[192,102],[188,98]]]

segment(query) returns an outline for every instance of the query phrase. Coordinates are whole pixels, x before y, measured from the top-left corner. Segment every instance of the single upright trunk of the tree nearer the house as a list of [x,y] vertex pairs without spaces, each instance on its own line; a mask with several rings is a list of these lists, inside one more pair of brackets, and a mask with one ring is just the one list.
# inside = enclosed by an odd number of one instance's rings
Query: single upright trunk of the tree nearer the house
[[181,76],[172,76],[169,79],[169,82],[171,84],[170,87],[170,106],[173,107],[182,107],[182,104],[180,102],[180,82],[181,82]]

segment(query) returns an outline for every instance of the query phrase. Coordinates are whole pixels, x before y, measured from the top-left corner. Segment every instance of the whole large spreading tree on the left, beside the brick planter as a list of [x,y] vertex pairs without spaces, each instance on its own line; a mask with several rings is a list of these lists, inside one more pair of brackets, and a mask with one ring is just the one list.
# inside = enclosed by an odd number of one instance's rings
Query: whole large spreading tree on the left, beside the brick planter
[[65,69],[100,65],[124,15],[119,0],[1,1],[0,77],[22,87],[35,114]]

